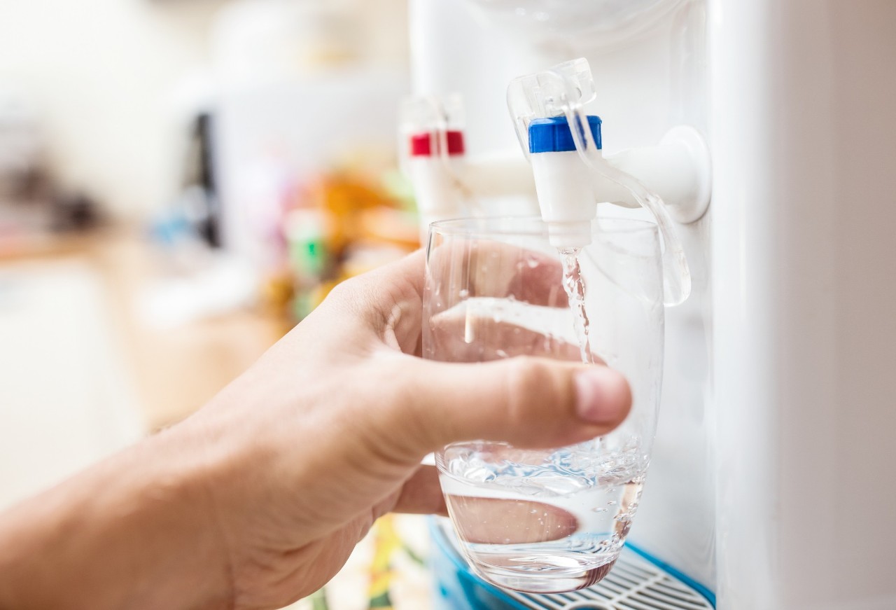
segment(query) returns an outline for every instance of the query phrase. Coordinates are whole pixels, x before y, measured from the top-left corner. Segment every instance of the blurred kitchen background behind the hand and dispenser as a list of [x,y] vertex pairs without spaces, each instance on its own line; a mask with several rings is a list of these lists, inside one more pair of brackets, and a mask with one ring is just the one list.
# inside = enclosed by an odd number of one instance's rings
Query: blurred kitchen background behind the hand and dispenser
[[[0,509],[418,247],[406,0],[0,0]],[[389,519],[297,607],[427,607]],[[404,530],[404,534],[402,534]]]

